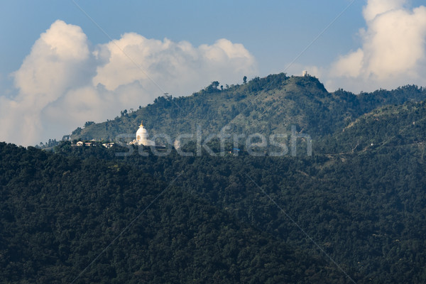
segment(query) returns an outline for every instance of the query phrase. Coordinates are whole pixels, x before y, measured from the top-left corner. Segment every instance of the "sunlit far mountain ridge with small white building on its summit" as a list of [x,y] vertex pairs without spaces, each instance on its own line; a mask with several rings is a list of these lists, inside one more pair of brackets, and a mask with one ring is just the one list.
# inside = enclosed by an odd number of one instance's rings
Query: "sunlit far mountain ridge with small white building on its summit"
[[143,119],[151,135],[219,133],[229,126],[231,133],[287,133],[290,126],[312,137],[343,129],[362,114],[386,104],[403,104],[426,99],[426,89],[405,86],[392,91],[352,94],[339,89],[329,93],[315,77],[288,77],[281,73],[254,78],[241,85],[219,88],[219,82],[188,97],[158,97],[153,104],[99,124],[87,123],[72,132],[71,139],[114,140],[120,134],[135,133]]

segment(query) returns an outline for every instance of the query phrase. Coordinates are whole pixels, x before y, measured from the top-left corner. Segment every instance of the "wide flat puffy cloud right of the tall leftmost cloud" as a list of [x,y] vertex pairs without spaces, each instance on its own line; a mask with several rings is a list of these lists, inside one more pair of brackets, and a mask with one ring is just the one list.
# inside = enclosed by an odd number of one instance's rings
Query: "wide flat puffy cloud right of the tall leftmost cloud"
[[164,92],[188,94],[212,80],[235,82],[256,74],[256,62],[249,51],[226,39],[196,48],[186,41],[174,43],[126,33],[101,45],[94,54],[107,64],[97,67],[93,83],[110,91],[138,81],[144,86],[155,82]]

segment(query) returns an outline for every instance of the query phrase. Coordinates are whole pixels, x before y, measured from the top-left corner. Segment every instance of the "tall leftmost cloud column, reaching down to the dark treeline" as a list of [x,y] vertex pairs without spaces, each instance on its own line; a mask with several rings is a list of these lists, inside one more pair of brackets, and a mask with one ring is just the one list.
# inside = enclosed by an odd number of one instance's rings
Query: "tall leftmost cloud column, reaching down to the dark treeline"
[[88,59],[87,37],[80,27],[55,21],[42,33],[13,73],[18,94],[0,97],[1,140],[28,145],[41,138],[45,129],[40,114],[67,88],[84,80],[81,70]]

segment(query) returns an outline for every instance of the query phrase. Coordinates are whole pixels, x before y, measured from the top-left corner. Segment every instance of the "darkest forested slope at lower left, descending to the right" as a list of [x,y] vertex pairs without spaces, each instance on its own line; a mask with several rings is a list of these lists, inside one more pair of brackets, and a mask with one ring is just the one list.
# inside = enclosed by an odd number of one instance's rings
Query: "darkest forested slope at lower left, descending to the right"
[[1,283],[71,283],[121,232],[75,283],[342,283],[327,261],[182,180],[97,150],[65,157],[0,143]]

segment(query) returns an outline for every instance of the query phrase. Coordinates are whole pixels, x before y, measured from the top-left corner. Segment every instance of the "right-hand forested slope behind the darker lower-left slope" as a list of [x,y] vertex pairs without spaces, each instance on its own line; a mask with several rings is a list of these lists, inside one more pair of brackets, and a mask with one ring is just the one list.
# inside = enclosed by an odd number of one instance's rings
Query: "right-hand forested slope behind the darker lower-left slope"
[[[181,185],[192,194],[291,246],[319,253],[263,195],[262,188],[356,283],[423,283],[424,112],[424,102],[375,109],[328,141],[317,141],[318,149],[327,146],[329,152],[314,151],[312,157],[141,157],[135,152],[125,160],[169,178],[182,170]],[[384,126],[386,135],[378,136],[382,142],[371,146],[368,139],[380,134]],[[389,143],[395,137],[398,143]],[[370,147],[342,151],[363,139]],[[102,153],[97,156],[104,157]]]

